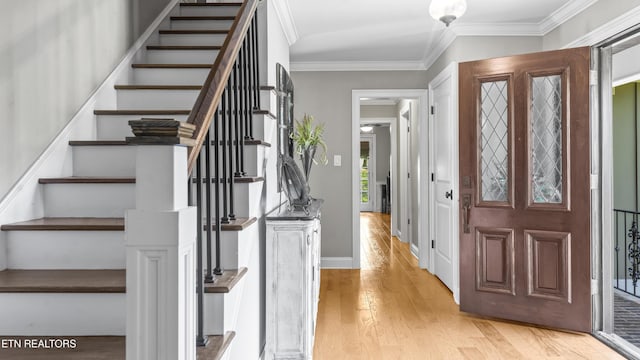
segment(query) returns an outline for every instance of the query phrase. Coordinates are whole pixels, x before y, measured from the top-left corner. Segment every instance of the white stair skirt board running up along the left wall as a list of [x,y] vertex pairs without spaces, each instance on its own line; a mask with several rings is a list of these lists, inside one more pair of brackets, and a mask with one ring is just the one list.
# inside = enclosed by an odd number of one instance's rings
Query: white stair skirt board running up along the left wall
[[[72,157],[69,140],[94,139],[96,122],[93,110],[96,106],[115,108],[116,92],[114,85],[126,79],[131,64],[145,51],[144,44],[155,34],[164,18],[178,4],[171,0],[147,30],[131,46],[120,63],[107,76],[102,84],[89,95],[80,110],[74,114],[67,125],[56,135],[49,146],[27,169],[16,184],[0,199],[0,224],[30,220],[44,216],[44,203],[38,180],[44,177],[65,177],[72,174]],[[6,234],[0,232],[0,270],[7,264]]]

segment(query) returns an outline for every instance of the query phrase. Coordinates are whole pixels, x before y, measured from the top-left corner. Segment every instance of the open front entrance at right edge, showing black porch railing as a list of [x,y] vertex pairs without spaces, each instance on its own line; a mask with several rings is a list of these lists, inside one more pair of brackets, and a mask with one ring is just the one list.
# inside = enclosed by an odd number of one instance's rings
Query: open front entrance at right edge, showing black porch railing
[[[616,50],[617,49],[617,50]],[[614,46],[612,73],[613,238],[609,307],[613,334],[640,351],[640,41]],[[605,310],[606,311],[606,310]],[[618,340],[620,340],[618,338]]]

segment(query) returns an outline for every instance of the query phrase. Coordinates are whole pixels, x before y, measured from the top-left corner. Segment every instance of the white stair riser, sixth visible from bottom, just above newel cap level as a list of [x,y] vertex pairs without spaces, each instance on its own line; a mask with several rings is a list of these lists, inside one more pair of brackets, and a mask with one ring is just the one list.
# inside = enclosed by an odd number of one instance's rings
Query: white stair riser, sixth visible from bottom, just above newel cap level
[[191,109],[200,90],[118,90],[118,110]]

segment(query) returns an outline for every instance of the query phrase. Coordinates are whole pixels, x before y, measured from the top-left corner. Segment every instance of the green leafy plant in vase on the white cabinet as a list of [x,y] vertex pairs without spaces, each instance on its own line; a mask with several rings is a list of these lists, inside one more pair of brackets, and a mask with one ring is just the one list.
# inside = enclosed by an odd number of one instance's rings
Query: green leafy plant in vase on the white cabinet
[[[300,155],[300,161],[302,162],[304,176],[309,182],[309,173],[311,172],[311,165],[314,163],[327,164],[327,144],[323,139],[324,124],[314,125],[313,116],[304,114],[302,121],[296,121],[294,125],[294,131],[291,133],[291,139],[295,143],[295,151]],[[322,152],[319,156],[319,161],[316,160],[316,151],[318,146],[321,147]]]

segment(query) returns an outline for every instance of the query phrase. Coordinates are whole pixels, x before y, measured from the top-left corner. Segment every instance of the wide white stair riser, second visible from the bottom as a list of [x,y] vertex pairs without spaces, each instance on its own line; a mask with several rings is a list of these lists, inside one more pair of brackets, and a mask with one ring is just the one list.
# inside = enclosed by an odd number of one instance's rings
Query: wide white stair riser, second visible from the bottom
[[125,268],[122,231],[9,231],[7,253],[10,269]]

